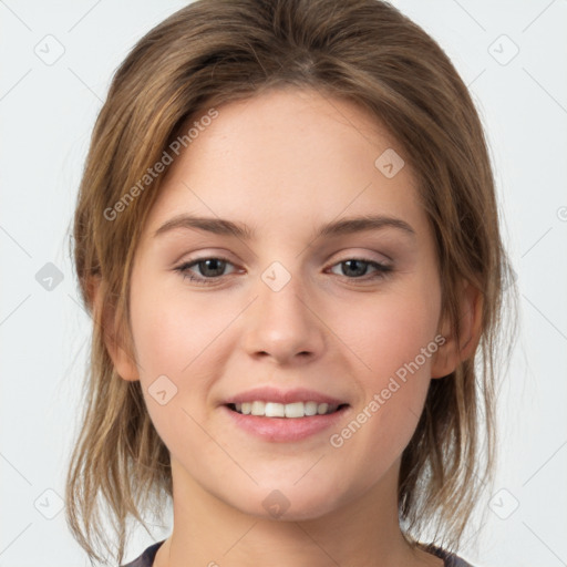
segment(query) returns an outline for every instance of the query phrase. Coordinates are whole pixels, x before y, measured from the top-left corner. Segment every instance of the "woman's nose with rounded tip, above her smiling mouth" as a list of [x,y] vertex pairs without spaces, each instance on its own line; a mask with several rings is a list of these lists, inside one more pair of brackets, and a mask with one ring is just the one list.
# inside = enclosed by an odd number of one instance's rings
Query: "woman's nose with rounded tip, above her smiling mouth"
[[321,355],[328,338],[324,316],[306,288],[300,276],[292,276],[279,290],[258,282],[257,298],[244,321],[244,348],[250,357],[295,364]]

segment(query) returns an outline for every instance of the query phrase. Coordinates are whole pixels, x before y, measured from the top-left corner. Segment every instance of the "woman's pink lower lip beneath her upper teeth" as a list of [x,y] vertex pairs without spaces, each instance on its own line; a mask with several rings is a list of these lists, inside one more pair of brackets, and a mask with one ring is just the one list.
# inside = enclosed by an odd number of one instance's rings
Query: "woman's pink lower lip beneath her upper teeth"
[[337,425],[350,406],[346,405],[340,410],[309,417],[266,417],[262,415],[245,415],[235,412],[223,405],[221,409],[228,413],[234,423],[244,431],[262,439],[278,443],[301,441],[317,433]]

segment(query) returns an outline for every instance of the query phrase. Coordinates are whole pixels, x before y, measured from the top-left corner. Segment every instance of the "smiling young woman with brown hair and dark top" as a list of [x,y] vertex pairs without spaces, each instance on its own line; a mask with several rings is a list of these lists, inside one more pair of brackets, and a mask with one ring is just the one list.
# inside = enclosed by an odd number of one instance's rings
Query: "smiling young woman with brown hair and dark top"
[[173,501],[135,567],[467,565],[509,268],[477,113],[423,30],[374,0],[179,10],[116,72],[74,238],[91,558],[101,493],[118,564],[127,516]]

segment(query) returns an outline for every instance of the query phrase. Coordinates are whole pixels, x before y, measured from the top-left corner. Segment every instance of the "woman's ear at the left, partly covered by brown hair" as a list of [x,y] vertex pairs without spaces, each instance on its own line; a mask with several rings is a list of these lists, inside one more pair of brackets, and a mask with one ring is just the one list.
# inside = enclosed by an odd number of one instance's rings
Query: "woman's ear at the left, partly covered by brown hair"
[[[122,311],[117,311],[112,306],[103,306],[105,285],[100,276],[93,277],[87,284],[87,293],[92,305],[93,319],[100,321],[102,326],[101,333],[104,344],[112,359],[117,374],[127,381],[140,380],[137,363],[134,354],[128,352],[124,341],[118,337],[118,321]],[[104,313],[101,310],[104,308]]]

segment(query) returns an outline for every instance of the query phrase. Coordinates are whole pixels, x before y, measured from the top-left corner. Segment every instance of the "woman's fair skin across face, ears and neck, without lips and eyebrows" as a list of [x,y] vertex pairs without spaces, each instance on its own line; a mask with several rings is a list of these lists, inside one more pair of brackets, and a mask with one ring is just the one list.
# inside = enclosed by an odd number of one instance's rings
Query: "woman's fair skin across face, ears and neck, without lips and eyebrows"
[[[460,349],[442,324],[433,233],[410,165],[392,178],[374,166],[386,148],[403,148],[363,110],[313,91],[272,91],[218,111],[169,166],[144,227],[131,281],[133,357],[109,341],[120,375],[141,380],[171,452],[174,529],[154,565],[441,566],[402,537],[400,460],[430,381],[475,341]],[[245,223],[257,235],[153,236],[181,213]],[[369,213],[403,219],[415,238],[391,227],[313,238],[324,223]],[[175,270],[219,255],[230,264],[212,286]],[[341,266],[360,257],[393,270],[369,279],[372,266],[358,278]],[[274,261],[291,278],[277,292],[261,279]],[[465,338],[478,329],[476,299],[465,288]],[[330,434],[439,334],[446,342],[331,446]],[[165,405],[148,393],[159,375],[177,388]],[[258,385],[305,386],[350,408],[332,431],[274,443],[235,427],[219,406]],[[279,518],[262,505],[274,489],[289,503]]]

